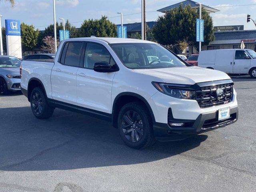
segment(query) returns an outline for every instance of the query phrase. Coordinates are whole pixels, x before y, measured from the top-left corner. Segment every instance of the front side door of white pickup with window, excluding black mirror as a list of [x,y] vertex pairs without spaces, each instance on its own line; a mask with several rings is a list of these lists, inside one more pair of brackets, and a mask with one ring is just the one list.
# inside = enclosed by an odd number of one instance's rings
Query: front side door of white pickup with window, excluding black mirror
[[111,92],[115,72],[100,73],[93,70],[96,62],[115,64],[108,50],[97,43],[87,43],[82,68],[77,72],[77,105],[111,113]]

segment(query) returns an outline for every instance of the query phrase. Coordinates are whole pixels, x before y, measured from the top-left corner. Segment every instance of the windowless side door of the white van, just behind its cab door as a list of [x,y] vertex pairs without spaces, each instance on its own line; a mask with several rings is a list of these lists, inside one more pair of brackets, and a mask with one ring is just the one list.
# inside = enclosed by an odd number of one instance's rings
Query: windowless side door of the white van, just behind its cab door
[[233,73],[234,50],[216,50],[215,69],[222,72]]

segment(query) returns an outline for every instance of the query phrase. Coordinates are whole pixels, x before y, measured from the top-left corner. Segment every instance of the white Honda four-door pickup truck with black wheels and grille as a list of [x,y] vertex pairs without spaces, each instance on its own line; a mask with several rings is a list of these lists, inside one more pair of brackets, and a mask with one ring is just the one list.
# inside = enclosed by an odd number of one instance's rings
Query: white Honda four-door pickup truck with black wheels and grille
[[54,62],[22,61],[21,90],[33,114],[62,108],[111,121],[132,148],[182,140],[236,122],[234,83],[154,42],[74,38]]

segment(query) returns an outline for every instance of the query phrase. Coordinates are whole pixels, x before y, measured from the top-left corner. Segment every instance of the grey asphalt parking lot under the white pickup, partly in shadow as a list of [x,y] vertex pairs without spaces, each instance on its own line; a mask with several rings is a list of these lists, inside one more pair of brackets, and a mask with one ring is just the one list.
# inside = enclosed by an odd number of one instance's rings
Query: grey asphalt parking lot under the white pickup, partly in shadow
[[232,79],[238,122],[144,150],[109,122],[60,109],[38,120],[22,94],[0,96],[0,192],[255,192],[256,80]]

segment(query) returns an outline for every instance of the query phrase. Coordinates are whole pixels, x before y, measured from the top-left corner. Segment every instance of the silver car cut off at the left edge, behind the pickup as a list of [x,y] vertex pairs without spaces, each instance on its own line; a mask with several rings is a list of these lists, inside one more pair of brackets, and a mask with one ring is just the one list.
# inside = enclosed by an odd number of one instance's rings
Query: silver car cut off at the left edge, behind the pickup
[[20,90],[21,60],[13,56],[0,56],[0,94]]

